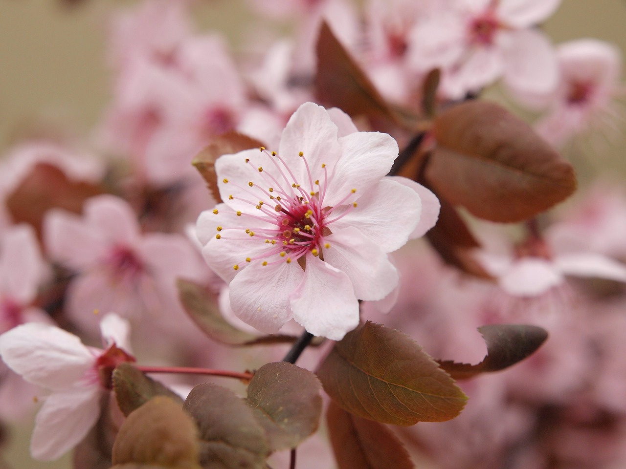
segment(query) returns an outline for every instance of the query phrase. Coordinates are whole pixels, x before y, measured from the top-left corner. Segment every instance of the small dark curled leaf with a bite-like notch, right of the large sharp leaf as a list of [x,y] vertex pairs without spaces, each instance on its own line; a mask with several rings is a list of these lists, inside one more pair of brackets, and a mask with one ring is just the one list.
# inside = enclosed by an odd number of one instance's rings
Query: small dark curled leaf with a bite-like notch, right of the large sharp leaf
[[478,328],[487,343],[487,355],[478,365],[439,361],[439,365],[455,380],[466,380],[480,373],[500,371],[535,353],[548,338],[538,326],[522,324],[491,324]]

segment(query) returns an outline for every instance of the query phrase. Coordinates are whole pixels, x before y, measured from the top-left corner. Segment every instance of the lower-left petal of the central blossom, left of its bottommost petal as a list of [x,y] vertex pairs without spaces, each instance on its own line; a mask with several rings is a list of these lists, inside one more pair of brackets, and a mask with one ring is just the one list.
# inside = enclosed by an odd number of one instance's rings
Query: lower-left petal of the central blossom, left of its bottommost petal
[[292,317],[289,295],[302,281],[297,262],[248,266],[230,282],[230,306],[245,323],[267,333],[277,332]]

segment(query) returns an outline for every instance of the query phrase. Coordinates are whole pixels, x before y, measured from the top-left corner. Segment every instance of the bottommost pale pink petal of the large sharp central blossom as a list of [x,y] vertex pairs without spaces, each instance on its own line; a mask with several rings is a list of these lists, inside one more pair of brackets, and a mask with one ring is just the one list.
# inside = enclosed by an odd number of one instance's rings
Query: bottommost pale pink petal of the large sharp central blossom
[[341,270],[307,254],[304,278],[290,298],[294,320],[311,334],[341,340],[359,325],[359,302]]

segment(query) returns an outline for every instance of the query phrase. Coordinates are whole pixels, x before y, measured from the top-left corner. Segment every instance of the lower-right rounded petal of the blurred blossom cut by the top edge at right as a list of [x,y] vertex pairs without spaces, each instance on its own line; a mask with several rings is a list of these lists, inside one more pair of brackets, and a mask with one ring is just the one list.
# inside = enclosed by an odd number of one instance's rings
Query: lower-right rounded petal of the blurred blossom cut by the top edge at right
[[510,33],[503,46],[503,79],[514,93],[551,93],[558,83],[557,57],[550,41],[538,31]]

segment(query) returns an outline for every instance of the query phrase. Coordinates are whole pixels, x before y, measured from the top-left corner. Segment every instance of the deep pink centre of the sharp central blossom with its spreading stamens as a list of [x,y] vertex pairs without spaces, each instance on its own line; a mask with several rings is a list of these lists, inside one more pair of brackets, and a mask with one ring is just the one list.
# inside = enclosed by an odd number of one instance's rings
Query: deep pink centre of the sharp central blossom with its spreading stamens
[[[267,182],[267,186],[260,186],[249,181],[247,193],[250,194],[250,198],[241,200],[254,205],[260,211],[259,216],[252,216],[253,219],[259,219],[266,224],[256,227],[218,226],[216,238],[218,240],[222,238],[225,240],[246,239],[241,236],[242,230],[249,238],[262,236],[265,244],[268,245],[267,250],[262,255],[246,258],[245,262],[248,263],[255,260],[262,260],[262,265],[271,265],[283,261],[290,263],[300,260],[309,251],[312,255],[323,258],[323,250],[330,248],[329,243],[324,240],[325,236],[332,234],[329,225],[356,207],[356,203],[348,205],[343,213],[334,217],[331,216],[334,212],[334,207],[324,206],[324,195],[326,194],[328,183],[328,173],[325,164],[322,164],[324,180],[319,181],[316,179],[314,181],[307,159],[300,152],[299,157],[302,158],[307,169],[307,181],[297,181],[292,171],[285,164],[285,161],[277,153],[269,153],[264,148],[261,150],[270,156],[274,164],[274,168],[267,168],[269,170],[262,167],[257,168],[257,171],[262,174],[263,179]],[[250,159],[246,159],[246,163],[252,164]],[[271,169],[276,170],[277,177],[272,174],[273,171],[270,172]],[[227,179],[224,179],[223,182],[228,183]],[[245,188],[245,186],[237,186]],[[305,190],[304,186],[309,188],[309,190]],[[355,192],[356,189],[352,189],[335,207],[344,204]],[[235,198],[231,195],[229,199]],[[217,214],[217,210],[214,210],[213,213]],[[240,216],[241,214],[240,211],[237,212],[237,215]],[[249,218],[250,216],[247,219]],[[224,233],[225,231],[227,233]],[[231,236],[228,231],[234,231],[233,235]],[[278,260],[271,262],[265,260],[275,255],[280,256]],[[302,261],[304,261],[304,258]],[[235,265],[233,268],[238,270],[239,265]]]

